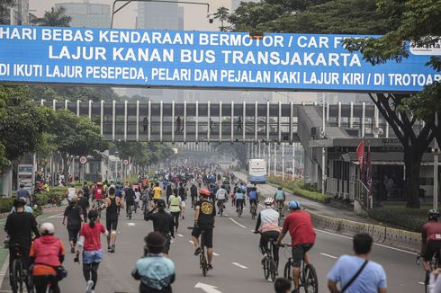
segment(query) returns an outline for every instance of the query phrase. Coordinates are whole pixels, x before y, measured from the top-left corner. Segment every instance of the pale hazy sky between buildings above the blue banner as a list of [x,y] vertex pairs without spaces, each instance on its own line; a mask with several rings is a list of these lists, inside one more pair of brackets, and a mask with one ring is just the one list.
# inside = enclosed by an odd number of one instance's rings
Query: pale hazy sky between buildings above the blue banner
[[[29,0],[29,9],[31,13],[37,16],[49,10],[56,3],[83,3],[83,0]],[[215,12],[220,6],[231,8],[231,0],[192,0],[191,2],[209,3],[211,12]],[[90,0],[89,3],[110,4],[112,6],[113,0]],[[116,6],[123,4],[117,3]],[[164,5],[167,5],[166,3]],[[207,8],[205,5],[196,4],[181,4],[184,7],[184,30],[188,31],[217,31],[220,26],[219,23],[209,23],[206,14]],[[124,7],[121,12],[115,14],[114,28],[132,29],[135,28],[135,17],[138,8],[138,3],[130,3]],[[112,8],[111,8],[112,9]]]

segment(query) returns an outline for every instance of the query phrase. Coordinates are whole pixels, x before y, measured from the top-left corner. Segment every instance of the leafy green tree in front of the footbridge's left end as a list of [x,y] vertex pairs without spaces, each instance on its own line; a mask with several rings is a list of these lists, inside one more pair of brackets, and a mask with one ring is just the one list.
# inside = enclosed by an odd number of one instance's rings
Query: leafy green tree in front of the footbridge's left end
[[101,157],[101,152],[108,147],[100,134],[100,128],[87,117],[78,117],[71,111],[56,111],[53,134],[56,136],[58,152],[64,162],[64,174],[76,155]]

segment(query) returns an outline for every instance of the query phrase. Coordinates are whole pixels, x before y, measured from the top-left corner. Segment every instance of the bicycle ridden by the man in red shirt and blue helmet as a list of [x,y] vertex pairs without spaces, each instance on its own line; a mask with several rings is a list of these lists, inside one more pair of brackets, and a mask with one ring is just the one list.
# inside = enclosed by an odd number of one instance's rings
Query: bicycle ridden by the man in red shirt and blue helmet
[[[282,244],[282,247],[291,247],[291,244]],[[293,281],[293,257],[290,256],[284,265],[284,278]],[[306,293],[319,292],[319,279],[317,271],[312,264],[305,262],[305,253],[303,253],[301,262],[301,271],[299,278],[299,288],[303,287]]]

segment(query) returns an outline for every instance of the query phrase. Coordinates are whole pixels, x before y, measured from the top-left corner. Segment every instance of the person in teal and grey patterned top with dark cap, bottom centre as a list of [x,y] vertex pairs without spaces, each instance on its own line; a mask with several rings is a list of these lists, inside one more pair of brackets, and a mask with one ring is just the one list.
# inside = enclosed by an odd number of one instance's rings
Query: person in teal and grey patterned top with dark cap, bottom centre
[[136,262],[131,275],[140,280],[139,292],[172,293],[175,281],[175,264],[162,255],[166,238],[159,232],[150,232],[144,238],[144,258]]

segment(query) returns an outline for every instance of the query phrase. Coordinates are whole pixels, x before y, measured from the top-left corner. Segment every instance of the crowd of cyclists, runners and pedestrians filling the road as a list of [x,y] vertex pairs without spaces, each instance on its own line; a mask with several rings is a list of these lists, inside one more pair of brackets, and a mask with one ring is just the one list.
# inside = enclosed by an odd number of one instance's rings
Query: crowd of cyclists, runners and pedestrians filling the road
[[[187,196],[191,198],[193,213],[192,242],[194,254],[201,253],[201,234],[207,248],[208,269],[213,269],[213,233],[215,216],[224,208],[228,200],[237,209],[256,204],[262,198],[257,186],[239,182],[232,173],[216,172],[214,165],[186,165],[157,172],[148,178],[139,174],[137,182],[94,182],[85,184],[81,189],[71,186],[67,189],[67,207],[63,225],[67,226],[70,252],[75,253],[75,261],[81,262],[85,277],[85,292],[94,292],[98,281],[98,269],[103,259],[101,235],[107,238],[108,253],[115,253],[118,219],[121,210],[126,210],[126,217],[131,212],[141,210],[146,221],[153,223],[153,231],[145,237],[144,257],[136,262],[131,272],[139,280],[139,292],[172,292],[175,280],[175,264],[168,257],[173,238],[179,229],[179,221],[184,219]],[[44,223],[37,228],[37,222],[31,211],[26,209],[26,192],[14,201],[14,212],[6,220],[5,229],[10,235],[11,244],[20,244],[23,251],[23,268],[31,265],[31,280],[36,292],[46,292],[48,284],[58,292],[58,281],[62,279],[59,268],[65,258],[65,247],[55,235],[51,223]],[[247,200],[246,200],[247,199]],[[255,233],[259,233],[259,251],[264,261],[268,253],[268,244],[274,245],[274,260],[279,266],[279,244],[286,234],[291,236],[293,276],[292,281],[279,278],[275,280],[275,291],[280,293],[299,292],[301,262],[311,264],[309,255],[316,242],[311,215],[305,212],[298,201],[289,201],[286,205],[284,191],[278,189],[274,195],[263,200],[265,209],[257,216]],[[190,203],[189,203],[190,204]],[[142,205],[142,206],[140,206]],[[282,215],[279,207],[287,206],[288,215],[281,226]],[[218,212],[217,212],[218,210]],[[105,225],[102,220],[105,211]],[[104,213],[103,213],[104,214]],[[437,222],[439,214],[431,211],[429,222],[424,228],[425,268],[436,247],[436,235],[441,235],[441,224]],[[36,238],[32,242],[31,235]],[[434,238],[435,237],[435,238]],[[273,241],[272,240],[276,240]],[[373,245],[370,235],[354,236],[354,255],[343,255],[334,264],[328,274],[329,291],[334,292],[386,292],[387,282],[383,267],[369,260]],[[10,255],[12,255],[11,253]],[[12,263],[12,259],[11,262]],[[155,268],[160,267],[160,271]],[[11,270],[10,270],[11,271]],[[433,292],[439,278],[431,277]]]

